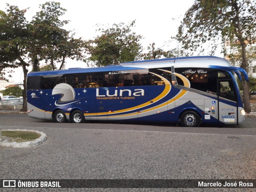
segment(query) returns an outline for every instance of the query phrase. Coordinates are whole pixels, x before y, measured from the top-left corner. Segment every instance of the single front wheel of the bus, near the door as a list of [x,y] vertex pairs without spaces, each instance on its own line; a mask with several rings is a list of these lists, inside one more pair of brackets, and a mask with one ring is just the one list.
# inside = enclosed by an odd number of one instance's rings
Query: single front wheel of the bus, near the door
[[184,127],[197,127],[199,126],[200,122],[200,115],[193,110],[184,111],[180,115],[180,123]]

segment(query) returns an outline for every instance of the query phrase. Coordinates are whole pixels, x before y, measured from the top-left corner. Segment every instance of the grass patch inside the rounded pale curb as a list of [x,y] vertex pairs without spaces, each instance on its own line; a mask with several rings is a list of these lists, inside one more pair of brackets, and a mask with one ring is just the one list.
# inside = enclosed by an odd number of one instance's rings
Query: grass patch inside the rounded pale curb
[[41,135],[31,131],[2,131],[2,136],[10,138],[11,141],[25,142],[36,140]]

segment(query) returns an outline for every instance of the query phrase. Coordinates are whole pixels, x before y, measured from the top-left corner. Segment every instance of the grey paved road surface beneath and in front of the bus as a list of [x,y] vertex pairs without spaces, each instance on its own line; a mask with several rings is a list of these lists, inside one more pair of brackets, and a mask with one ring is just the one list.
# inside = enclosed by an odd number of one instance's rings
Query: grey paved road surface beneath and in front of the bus
[[[0,179],[256,178],[255,117],[247,117],[241,125],[183,128],[176,124],[124,122],[56,124],[29,118],[26,114],[0,114],[0,128],[33,129],[48,136],[46,142],[35,147],[0,147]],[[255,188],[58,190],[254,191]]]

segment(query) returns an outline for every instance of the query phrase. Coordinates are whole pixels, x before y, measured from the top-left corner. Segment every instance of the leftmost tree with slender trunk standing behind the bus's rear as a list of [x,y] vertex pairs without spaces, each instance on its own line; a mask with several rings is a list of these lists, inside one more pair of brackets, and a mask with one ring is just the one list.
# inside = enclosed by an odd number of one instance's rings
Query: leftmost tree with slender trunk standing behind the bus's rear
[[28,22],[24,17],[26,10],[19,10],[17,6],[10,6],[7,12],[0,12],[0,72],[3,76],[6,69],[22,67],[24,74],[23,108],[27,111],[26,75],[29,63],[28,45],[30,34],[27,30]]

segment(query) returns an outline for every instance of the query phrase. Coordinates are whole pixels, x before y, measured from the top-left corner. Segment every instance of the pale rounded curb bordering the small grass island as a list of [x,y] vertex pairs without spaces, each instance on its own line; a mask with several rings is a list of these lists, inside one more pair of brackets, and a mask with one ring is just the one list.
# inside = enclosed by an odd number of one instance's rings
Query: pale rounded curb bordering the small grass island
[[2,131],[28,131],[28,132],[35,132],[41,135],[36,140],[26,141],[26,142],[10,142],[10,141],[3,142],[0,140],[0,146],[3,146],[3,147],[24,148],[24,147],[38,146],[47,140],[46,134],[40,131],[26,130],[26,129],[15,129],[15,130],[8,129],[8,130],[2,130]]

